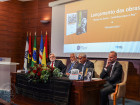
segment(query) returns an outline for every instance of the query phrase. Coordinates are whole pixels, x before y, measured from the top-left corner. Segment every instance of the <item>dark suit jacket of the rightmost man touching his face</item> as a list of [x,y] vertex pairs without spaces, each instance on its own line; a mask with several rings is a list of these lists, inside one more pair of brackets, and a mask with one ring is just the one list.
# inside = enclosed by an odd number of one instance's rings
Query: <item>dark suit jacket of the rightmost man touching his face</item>
[[116,61],[113,69],[112,69],[112,74],[111,77],[109,75],[109,70],[110,68],[107,67],[107,70],[103,69],[103,71],[100,74],[100,78],[105,79],[107,82],[112,84],[113,86],[116,86],[117,83],[121,82],[122,79],[122,65]]

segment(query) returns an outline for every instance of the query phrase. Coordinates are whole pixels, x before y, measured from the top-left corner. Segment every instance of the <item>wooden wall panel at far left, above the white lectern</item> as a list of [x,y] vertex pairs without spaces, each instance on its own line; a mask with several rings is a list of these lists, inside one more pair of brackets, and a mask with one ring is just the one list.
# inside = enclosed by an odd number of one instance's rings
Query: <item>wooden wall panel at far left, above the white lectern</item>
[[[19,62],[24,51],[23,7],[17,0],[0,2],[0,56],[10,57],[13,62]],[[16,58],[16,59],[15,59]],[[18,67],[19,69],[20,67]]]

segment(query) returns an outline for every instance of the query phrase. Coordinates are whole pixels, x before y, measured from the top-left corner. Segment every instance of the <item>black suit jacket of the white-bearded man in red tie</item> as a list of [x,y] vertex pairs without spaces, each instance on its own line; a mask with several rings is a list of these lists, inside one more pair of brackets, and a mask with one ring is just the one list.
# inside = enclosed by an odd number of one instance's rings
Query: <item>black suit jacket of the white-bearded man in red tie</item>
[[[51,64],[51,62],[48,62],[48,63],[47,63],[47,65],[49,65],[49,66],[50,66],[50,64]],[[62,62],[61,60],[55,60],[55,61],[54,61],[54,66],[55,66],[56,68],[59,68],[60,71],[61,71],[62,73],[65,73],[65,71],[66,71],[66,66],[63,64],[63,62]]]

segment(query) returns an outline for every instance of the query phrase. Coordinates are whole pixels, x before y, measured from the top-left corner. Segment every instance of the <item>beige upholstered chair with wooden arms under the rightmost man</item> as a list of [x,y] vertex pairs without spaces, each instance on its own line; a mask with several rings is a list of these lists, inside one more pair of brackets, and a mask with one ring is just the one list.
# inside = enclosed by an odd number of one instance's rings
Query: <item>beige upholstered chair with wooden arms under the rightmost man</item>
[[122,82],[116,85],[114,93],[109,95],[109,98],[113,100],[113,105],[116,105],[118,98],[122,98],[122,103],[125,105],[125,93],[126,93],[126,81],[128,74],[128,61],[119,61],[123,68]]

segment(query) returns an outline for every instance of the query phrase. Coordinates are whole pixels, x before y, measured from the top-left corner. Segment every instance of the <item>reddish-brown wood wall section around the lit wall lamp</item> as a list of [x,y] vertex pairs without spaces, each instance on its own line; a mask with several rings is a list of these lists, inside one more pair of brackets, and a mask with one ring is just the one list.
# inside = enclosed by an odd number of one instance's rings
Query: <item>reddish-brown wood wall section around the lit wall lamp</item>
[[[52,8],[48,7],[48,3],[54,0],[34,0],[24,3],[24,29],[25,32],[32,33],[32,44],[34,40],[34,33],[37,32],[37,52],[39,52],[39,44],[41,39],[41,32],[45,42],[45,33],[48,33],[48,53],[50,49],[51,38],[51,15]],[[48,24],[42,24],[40,20],[49,18]],[[38,54],[38,53],[37,53]],[[37,57],[38,58],[38,57]]]

